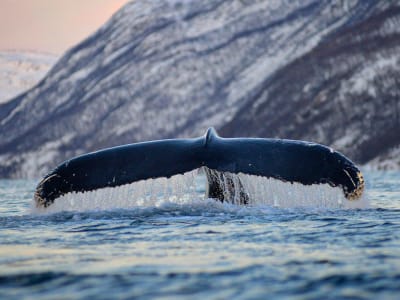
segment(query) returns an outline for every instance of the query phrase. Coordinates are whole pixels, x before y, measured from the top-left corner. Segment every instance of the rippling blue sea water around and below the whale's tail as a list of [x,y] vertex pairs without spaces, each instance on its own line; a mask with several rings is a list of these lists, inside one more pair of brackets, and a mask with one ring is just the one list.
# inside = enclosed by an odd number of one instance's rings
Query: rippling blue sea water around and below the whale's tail
[[0,299],[400,299],[400,172],[365,177],[363,209],[245,207],[200,189],[46,214],[32,211],[35,181],[2,180]]

